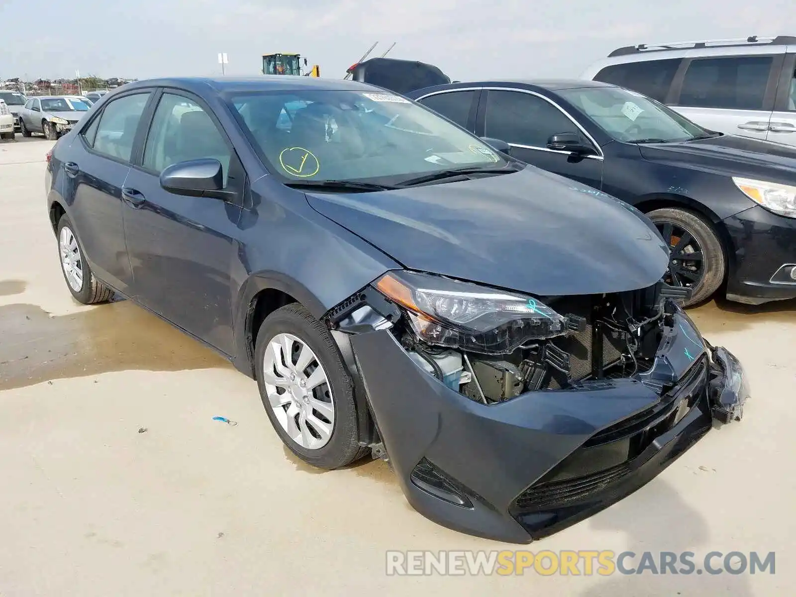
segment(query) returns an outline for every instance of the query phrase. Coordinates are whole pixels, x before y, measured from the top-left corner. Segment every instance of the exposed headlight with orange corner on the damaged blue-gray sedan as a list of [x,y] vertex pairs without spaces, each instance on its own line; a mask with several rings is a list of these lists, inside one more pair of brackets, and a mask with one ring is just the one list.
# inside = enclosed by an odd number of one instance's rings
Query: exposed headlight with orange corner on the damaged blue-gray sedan
[[504,354],[568,331],[567,318],[528,295],[413,271],[388,271],[376,287],[404,306],[412,329],[432,345]]

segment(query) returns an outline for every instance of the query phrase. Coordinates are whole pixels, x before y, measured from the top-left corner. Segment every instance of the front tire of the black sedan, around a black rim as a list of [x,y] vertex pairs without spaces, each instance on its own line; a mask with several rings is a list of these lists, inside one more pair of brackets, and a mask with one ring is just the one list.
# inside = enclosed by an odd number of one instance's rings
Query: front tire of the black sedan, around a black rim
[[[664,233],[664,240],[673,248],[672,256],[669,260],[669,270],[666,272],[667,281],[677,286],[685,286],[692,289],[691,298],[685,302],[685,306],[698,305],[711,298],[713,293],[721,286],[721,283],[724,282],[724,272],[726,271],[724,250],[716,231],[701,217],[685,209],[655,209],[648,213],[647,216],[650,217],[650,220],[653,220],[657,228],[661,230],[661,233],[669,230],[668,239],[665,238],[666,235]],[[674,239],[671,228],[665,228],[667,224],[674,229],[681,229],[684,233],[678,239]],[[691,244],[692,252],[682,252],[687,248],[684,246],[678,255],[672,242],[676,241],[679,244],[680,241],[686,238],[686,234],[696,241],[699,251],[694,251],[693,244]],[[694,257],[698,253],[702,255],[702,265],[698,279],[687,279],[683,274],[693,278],[693,271],[685,269],[685,264],[689,263],[689,267],[697,267],[693,263],[696,263]]]

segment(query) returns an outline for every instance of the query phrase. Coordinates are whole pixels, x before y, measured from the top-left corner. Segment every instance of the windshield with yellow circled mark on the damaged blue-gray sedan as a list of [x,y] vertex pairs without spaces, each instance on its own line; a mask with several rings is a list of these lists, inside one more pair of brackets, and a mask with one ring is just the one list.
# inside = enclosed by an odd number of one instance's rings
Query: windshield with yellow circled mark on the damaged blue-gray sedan
[[477,137],[390,92],[257,92],[228,101],[266,165],[292,181],[398,184],[506,166]]

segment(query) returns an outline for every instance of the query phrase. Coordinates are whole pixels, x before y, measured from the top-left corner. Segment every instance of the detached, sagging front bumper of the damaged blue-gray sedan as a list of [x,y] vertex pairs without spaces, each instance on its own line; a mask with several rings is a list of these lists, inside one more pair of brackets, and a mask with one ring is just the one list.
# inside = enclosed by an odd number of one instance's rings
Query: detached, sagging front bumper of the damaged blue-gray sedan
[[388,331],[354,335],[351,345],[388,458],[415,509],[464,533],[527,543],[643,486],[712,419],[739,418],[748,391],[738,361],[724,349],[697,348],[695,338],[690,320],[678,315],[654,368],[677,380],[663,396],[656,380],[639,377],[489,406],[425,373]]

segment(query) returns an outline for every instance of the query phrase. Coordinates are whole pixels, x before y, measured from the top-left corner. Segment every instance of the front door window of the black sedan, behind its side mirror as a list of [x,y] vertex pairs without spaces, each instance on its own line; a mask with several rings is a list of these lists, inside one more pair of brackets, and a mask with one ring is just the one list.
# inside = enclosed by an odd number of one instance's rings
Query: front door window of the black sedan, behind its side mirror
[[572,120],[538,96],[494,91],[486,96],[487,137],[517,145],[544,147],[551,135],[578,132]]

